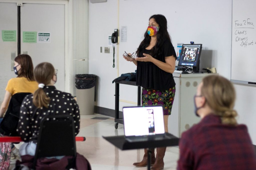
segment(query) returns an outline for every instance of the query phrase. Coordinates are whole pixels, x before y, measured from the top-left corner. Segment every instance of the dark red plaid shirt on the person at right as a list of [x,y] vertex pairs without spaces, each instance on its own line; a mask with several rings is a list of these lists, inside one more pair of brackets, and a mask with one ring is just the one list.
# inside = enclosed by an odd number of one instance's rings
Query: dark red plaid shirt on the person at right
[[212,114],[182,134],[179,149],[178,170],[256,170],[247,127],[223,125]]

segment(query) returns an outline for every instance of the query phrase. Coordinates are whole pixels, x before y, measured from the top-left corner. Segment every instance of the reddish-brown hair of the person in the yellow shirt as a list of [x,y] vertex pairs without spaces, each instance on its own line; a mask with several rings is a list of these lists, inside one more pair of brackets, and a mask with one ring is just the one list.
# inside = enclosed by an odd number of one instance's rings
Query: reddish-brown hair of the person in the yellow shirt
[[20,64],[20,72],[17,77],[26,77],[29,81],[34,81],[34,66],[32,59],[27,54],[20,54],[14,59]]

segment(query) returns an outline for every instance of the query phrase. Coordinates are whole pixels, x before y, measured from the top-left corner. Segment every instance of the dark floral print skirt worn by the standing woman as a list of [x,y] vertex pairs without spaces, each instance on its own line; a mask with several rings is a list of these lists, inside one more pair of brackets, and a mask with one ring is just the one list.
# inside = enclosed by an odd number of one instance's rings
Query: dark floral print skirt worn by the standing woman
[[170,115],[175,96],[175,86],[168,90],[154,90],[152,88],[142,88],[142,106],[163,106],[164,115]]

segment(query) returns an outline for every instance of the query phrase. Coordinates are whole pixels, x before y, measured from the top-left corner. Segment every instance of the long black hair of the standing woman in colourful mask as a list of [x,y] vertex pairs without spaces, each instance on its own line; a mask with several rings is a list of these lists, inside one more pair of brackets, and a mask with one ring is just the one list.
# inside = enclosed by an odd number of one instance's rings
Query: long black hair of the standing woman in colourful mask
[[[154,18],[156,23],[159,24],[159,31],[157,32],[157,38],[156,38],[156,45],[152,48],[151,56],[156,57],[162,54],[163,52],[163,44],[166,40],[171,42],[170,35],[167,31],[167,20],[165,16],[161,14],[152,15],[151,18]],[[140,52],[149,46],[151,40],[151,36],[148,35],[147,30],[144,34],[144,40],[141,42],[140,46],[138,47],[138,50],[136,51],[137,56],[139,56]],[[141,56],[140,56],[141,57]]]

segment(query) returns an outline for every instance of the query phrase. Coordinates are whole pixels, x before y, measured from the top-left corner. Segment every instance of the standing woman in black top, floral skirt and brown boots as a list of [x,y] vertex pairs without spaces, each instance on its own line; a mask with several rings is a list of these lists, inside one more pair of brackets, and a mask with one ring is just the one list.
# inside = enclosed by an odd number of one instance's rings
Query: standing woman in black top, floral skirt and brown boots
[[[148,28],[144,40],[136,51],[137,58],[123,56],[125,60],[137,66],[137,85],[142,86],[142,106],[162,105],[164,109],[165,132],[168,132],[168,116],[171,114],[175,96],[175,82],[172,73],[177,59],[170,35],[167,31],[165,16],[157,14],[149,18]],[[130,55],[130,54],[129,54]],[[147,166],[147,149],[141,162],[133,165]],[[164,168],[166,147],[152,151],[152,169]]]

